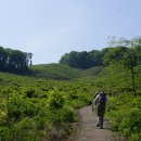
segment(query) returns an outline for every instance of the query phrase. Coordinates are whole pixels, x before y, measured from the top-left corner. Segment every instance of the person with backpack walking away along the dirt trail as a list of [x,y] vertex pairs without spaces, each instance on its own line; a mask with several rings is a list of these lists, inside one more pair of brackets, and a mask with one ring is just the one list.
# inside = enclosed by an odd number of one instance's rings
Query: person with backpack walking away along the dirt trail
[[[99,92],[98,95],[94,98],[93,102],[92,102],[92,112],[93,112],[93,105],[94,103],[98,104],[98,125],[97,127],[103,128],[103,118],[104,118],[104,113],[105,113],[105,105],[106,102],[108,102],[105,93]],[[110,106],[110,104],[108,104]]]

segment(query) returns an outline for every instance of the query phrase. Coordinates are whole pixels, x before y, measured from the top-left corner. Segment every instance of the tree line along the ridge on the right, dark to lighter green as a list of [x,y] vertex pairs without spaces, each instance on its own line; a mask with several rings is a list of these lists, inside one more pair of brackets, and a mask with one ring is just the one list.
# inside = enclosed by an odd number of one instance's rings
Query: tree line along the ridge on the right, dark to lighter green
[[110,47],[102,50],[90,52],[72,51],[65,53],[60,63],[74,68],[87,69],[94,66],[106,66],[118,62],[128,65],[141,64],[141,43],[140,38],[127,40],[111,40]]

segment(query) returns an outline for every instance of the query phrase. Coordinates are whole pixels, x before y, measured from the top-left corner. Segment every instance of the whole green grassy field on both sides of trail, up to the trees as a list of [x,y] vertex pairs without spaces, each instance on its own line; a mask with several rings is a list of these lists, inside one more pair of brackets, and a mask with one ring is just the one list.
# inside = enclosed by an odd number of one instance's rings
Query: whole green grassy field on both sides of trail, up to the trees
[[[0,73],[0,140],[57,140],[78,121],[76,110],[91,104],[94,90],[111,92],[106,117],[113,130],[141,139],[141,66],[137,95],[130,72],[121,65],[75,69],[61,64],[35,65],[31,75]],[[118,123],[118,124],[117,124]]]

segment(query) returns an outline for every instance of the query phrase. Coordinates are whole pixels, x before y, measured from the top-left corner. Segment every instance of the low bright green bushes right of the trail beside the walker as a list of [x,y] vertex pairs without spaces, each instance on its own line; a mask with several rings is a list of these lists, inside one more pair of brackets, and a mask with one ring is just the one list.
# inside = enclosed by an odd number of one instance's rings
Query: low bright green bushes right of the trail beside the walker
[[119,131],[131,141],[138,141],[141,132],[141,108],[140,98],[132,95],[118,95],[111,99],[112,111],[108,118],[112,128]]

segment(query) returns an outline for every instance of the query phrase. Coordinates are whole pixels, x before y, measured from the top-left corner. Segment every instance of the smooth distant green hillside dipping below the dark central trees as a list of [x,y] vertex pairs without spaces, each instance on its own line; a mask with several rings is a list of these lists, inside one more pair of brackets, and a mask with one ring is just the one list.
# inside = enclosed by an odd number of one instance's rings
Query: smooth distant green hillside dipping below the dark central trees
[[89,69],[72,68],[63,64],[41,64],[31,66],[34,76],[41,78],[50,78],[57,80],[68,80],[74,78],[89,77],[99,74],[103,68],[101,66],[91,67]]

